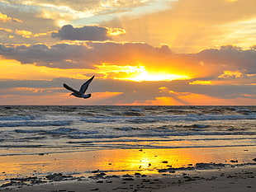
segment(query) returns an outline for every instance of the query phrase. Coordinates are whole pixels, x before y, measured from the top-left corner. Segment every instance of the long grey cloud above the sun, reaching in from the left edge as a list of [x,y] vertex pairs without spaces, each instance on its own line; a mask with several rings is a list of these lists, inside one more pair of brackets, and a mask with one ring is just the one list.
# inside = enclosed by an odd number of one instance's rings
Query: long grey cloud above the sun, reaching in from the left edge
[[34,63],[49,68],[94,68],[101,63],[138,65],[149,59],[171,54],[167,46],[154,48],[149,44],[45,44],[10,46],[0,44],[0,55],[21,63]]

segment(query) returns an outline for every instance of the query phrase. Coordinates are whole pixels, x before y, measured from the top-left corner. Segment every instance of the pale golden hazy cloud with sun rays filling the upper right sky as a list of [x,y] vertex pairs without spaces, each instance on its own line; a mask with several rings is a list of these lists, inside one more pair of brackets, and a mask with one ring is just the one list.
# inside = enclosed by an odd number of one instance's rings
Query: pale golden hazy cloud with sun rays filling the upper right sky
[[154,46],[165,43],[176,53],[197,53],[221,44],[241,44],[248,48],[256,38],[254,7],[254,0],[169,1],[164,11],[122,16],[100,24],[125,29],[127,35],[117,40]]

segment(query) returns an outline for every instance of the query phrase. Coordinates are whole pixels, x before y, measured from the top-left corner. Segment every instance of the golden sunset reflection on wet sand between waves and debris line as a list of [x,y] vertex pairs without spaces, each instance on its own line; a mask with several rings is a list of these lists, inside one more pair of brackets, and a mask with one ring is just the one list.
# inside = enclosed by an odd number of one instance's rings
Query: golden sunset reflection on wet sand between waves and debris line
[[0,179],[17,176],[44,176],[62,172],[86,176],[92,171],[125,174],[158,173],[167,167],[195,165],[197,162],[251,162],[256,148],[115,149],[44,155],[0,157]]

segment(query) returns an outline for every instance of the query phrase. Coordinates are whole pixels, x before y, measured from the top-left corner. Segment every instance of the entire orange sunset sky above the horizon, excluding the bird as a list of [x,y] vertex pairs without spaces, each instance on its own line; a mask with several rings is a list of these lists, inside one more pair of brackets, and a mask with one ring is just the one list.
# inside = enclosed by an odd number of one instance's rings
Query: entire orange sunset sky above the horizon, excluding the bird
[[0,105],[256,105],[255,7],[0,0]]

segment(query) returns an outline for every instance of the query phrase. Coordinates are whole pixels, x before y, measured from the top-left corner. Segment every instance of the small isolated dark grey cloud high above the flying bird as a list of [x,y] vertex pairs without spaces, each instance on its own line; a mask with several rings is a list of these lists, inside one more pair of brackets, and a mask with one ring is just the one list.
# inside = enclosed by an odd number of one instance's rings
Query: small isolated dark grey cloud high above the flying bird
[[107,28],[100,26],[83,26],[73,28],[71,25],[63,26],[58,33],[52,33],[53,38],[60,40],[111,40],[107,35]]

